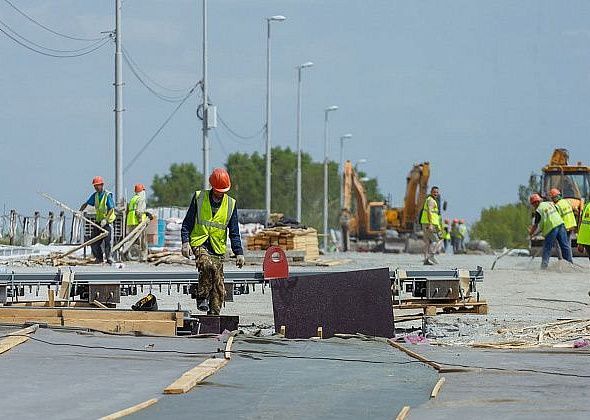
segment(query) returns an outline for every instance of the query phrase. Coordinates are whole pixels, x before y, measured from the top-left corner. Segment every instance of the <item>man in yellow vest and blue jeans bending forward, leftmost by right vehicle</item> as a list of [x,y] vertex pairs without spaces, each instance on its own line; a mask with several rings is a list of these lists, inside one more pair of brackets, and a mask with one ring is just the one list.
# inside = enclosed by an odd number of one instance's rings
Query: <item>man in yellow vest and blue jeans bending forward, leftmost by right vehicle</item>
[[555,205],[548,201],[543,201],[537,193],[531,194],[529,202],[535,209],[535,219],[533,225],[529,228],[529,234],[534,236],[537,232],[540,232],[545,238],[543,242],[541,268],[546,269],[549,265],[549,257],[551,256],[551,250],[556,240],[563,258],[566,261],[573,262],[571,243],[567,239],[563,219],[559,215]]

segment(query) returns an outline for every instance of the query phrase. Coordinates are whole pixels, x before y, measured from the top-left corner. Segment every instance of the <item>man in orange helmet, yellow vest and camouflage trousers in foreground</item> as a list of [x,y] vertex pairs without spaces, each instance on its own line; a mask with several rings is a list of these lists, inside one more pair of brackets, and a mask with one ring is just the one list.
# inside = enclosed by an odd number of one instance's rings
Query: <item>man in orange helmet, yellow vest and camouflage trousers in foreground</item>
[[236,200],[226,193],[231,180],[223,168],[215,168],[209,177],[210,190],[197,191],[182,222],[182,255],[195,255],[199,284],[191,291],[197,308],[208,315],[219,315],[225,297],[223,260],[229,230],[236,265],[244,266]]

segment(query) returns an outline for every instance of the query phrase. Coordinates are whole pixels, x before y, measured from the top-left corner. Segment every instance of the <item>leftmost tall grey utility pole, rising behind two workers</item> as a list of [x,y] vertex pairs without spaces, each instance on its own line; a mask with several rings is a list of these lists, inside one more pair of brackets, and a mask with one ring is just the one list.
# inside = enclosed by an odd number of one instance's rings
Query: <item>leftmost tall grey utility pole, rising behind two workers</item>
[[121,0],[115,0],[115,199],[123,206],[123,52]]

